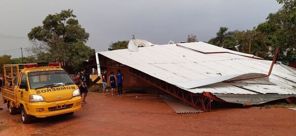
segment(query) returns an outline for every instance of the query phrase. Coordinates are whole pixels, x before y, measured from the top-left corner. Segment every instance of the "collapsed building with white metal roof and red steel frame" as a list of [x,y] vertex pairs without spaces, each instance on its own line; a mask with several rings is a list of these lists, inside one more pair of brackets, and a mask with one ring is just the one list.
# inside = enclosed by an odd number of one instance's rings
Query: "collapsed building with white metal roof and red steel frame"
[[96,53],[98,69],[120,68],[203,111],[212,101],[258,105],[296,96],[296,70],[276,57],[204,42],[134,48]]

